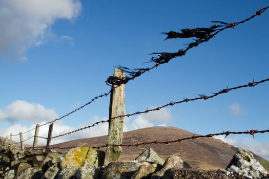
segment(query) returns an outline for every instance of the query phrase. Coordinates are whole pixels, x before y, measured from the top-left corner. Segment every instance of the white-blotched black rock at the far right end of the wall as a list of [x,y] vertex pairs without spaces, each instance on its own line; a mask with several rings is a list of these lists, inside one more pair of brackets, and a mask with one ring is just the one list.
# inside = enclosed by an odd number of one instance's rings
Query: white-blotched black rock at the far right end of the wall
[[249,178],[262,178],[268,174],[260,163],[254,159],[253,154],[245,148],[238,149],[226,169]]

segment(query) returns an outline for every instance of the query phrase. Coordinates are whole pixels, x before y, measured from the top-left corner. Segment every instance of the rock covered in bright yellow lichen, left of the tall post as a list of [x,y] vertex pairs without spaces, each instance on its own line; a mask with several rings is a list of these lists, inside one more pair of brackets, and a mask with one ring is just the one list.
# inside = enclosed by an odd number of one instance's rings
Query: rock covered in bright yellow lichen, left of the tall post
[[60,159],[61,168],[69,166],[77,169],[83,166],[102,166],[104,164],[105,152],[89,147],[76,147],[68,150]]

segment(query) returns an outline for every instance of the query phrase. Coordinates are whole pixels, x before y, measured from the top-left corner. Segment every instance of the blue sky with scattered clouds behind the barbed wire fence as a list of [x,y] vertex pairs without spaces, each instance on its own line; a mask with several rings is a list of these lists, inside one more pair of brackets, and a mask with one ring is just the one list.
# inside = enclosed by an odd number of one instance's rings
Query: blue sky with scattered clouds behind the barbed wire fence
[[[33,3],[34,2],[34,3]],[[192,39],[161,32],[210,27],[211,20],[240,21],[266,1],[33,1],[0,2],[0,136],[61,117],[110,90],[117,65],[147,68],[153,52],[177,52]],[[226,29],[179,58],[126,85],[126,114],[170,101],[211,95],[269,76],[269,12]],[[3,24],[4,23],[4,24]],[[125,120],[125,131],[175,126],[205,135],[226,130],[269,129],[265,82],[209,100],[181,103]],[[108,118],[109,97],[55,123],[53,136]],[[40,128],[47,136],[48,126]],[[52,143],[106,135],[108,125],[57,138]],[[33,132],[33,131],[32,131]],[[28,136],[27,136],[28,135]],[[28,133],[25,138],[31,137]],[[269,159],[269,135],[227,139]],[[16,140],[16,139],[15,139]],[[28,141],[32,143],[32,141]],[[42,140],[40,143],[44,142]]]

